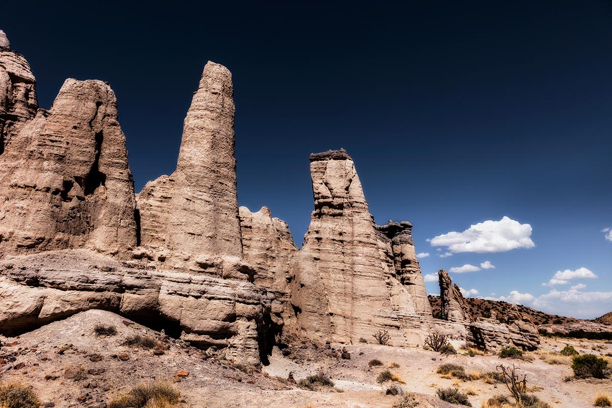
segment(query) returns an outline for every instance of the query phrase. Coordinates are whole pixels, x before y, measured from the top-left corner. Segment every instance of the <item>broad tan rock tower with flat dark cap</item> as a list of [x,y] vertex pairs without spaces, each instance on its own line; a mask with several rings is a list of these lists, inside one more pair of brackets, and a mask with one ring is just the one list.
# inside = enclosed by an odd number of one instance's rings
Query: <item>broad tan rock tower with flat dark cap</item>
[[[345,150],[312,154],[310,161],[315,210],[290,283],[297,327],[312,338],[341,342],[390,330],[392,343],[403,344],[399,316],[428,310],[412,296],[427,299],[422,278],[409,276],[416,274],[418,264],[407,269],[414,257],[408,250],[407,224],[399,228],[404,234],[394,226],[376,227]],[[402,281],[422,287],[411,293]]]

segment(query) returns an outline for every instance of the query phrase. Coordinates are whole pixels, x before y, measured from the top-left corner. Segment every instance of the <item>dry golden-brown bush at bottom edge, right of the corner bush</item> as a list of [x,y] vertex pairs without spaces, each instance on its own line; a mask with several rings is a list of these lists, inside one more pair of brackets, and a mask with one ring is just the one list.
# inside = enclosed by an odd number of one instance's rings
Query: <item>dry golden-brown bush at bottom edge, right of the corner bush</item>
[[173,385],[165,382],[139,384],[132,390],[113,398],[108,408],[152,408],[171,407],[178,404],[181,393]]

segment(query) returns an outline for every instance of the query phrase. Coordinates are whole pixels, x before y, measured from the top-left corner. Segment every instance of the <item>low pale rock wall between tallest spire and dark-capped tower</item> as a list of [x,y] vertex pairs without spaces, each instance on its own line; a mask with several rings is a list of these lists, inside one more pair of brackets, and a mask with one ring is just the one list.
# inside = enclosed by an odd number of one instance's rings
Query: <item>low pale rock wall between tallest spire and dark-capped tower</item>
[[240,226],[244,260],[255,269],[255,284],[274,294],[272,317],[280,330],[294,316],[289,306],[289,264],[297,247],[285,221],[272,218],[267,207],[258,212],[240,207]]

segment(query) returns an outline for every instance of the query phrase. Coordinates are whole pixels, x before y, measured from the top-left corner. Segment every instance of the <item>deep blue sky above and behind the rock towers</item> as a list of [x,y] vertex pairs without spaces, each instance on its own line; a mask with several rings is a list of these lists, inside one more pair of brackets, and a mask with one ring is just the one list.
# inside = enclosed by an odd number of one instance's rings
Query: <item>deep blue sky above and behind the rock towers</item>
[[[42,107],[65,78],[110,82],[136,191],[174,170],[211,60],[234,77],[239,202],[270,207],[298,245],[308,154],[344,147],[376,221],[414,224],[424,274],[490,261],[453,279],[559,314],[612,310],[611,2],[220,3],[9,2],[0,29]],[[426,241],[504,215],[535,247],[439,258]],[[581,267],[599,278],[541,286]]]

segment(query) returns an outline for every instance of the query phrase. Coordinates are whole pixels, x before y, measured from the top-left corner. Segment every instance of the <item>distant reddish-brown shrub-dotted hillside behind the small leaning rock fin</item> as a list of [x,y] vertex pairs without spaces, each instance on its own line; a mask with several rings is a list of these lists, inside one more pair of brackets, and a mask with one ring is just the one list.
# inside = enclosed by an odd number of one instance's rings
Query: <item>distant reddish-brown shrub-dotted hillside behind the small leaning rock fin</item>
[[[431,309],[433,310],[433,316],[438,317],[440,314],[440,297],[428,295],[428,298],[429,302],[431,303]],[[512,303],[499,302],[498,300],[476,299],[473,297],[466,298],[466,302],[468,303],[472,316],[474,317],[489,318],[491,317],[491,311],[493,310],[497,312],[498,317],[507,316],[510,308],[513,306]],[[529,319],[531,319],[535,325],[565,324],[580,321],[580,319],[574,319],[573,317],[544,313],[523,305],[517,305],[517,307],[520,313],[523,314],[524,317],[529,317]],[[606,316],[608,316],[609,320],[612,320],[612,313],[605,314],[602,317],[599,317],[599,319],[603,319]]]

